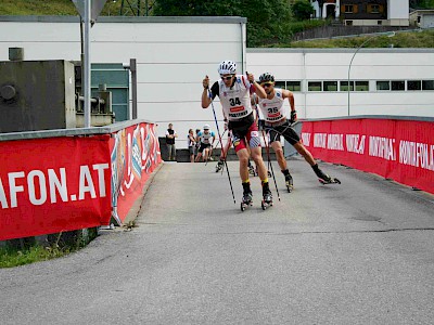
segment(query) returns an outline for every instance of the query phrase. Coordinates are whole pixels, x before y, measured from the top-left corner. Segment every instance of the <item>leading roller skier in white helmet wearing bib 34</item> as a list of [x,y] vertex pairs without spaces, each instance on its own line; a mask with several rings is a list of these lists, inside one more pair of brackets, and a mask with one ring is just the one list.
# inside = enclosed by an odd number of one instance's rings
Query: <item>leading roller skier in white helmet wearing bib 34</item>
[[[221,62],[218,73],[221,79],[214,82],[210,90],[208,76],[202,81],[204,88],[202,92],[202,107],[207,108],[216,96],[220,100],[224,116],[228,119],[228,129],[232,133],[232,143],[240,160],[243,204],[248,205],[252,203],[247,167],[251,155],[258,168],[258,174],[263,184],[264,202],[270,204],[272,203],[272,196],[261,156],[260,136],[253,116],[250,98],[251,91],[255,92],[260,99],[266,98],[267,94],[255,81],[252,74],[247,74],[246,76],[237,75],[237,65],[232,61]],[[251,153],[248,153],[247,146],[251,148]]]

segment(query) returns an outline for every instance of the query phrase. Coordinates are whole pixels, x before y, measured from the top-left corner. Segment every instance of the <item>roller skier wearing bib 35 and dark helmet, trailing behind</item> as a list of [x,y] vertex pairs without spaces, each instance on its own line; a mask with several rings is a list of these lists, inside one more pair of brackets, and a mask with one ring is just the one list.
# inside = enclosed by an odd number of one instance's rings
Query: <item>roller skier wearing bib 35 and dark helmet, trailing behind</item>
[[[291,127],[293,122],[297,120],[297,114],[295,110],[294,95],[291,91],[280,88],[275,88],[275,76],[269,73],[261,74],[259,76],[260,86],[264,87],[267,98],[257,99],[260,112],[264,116],[265,130],[270,139],[270,145],[273,148],[279,167],[284,174],[288,191],[292,191],[293,180],[288,170],[286,160],[283,156],[282,144],[280,143],[280,135],[294,146],[294,148],[301,154],[305,160],[311,166],[315,173],[323,183],[334,183],[336,179],[333,179],[322,172],[319,169],[318,164],[315,161],[310,152],[304,146],[297,132]],[[286,100],[290,102],[291,115],[290,119],[286,118],[286,112],[283,107],[283,102]],[[339,180],[337,180],[339,182]]]

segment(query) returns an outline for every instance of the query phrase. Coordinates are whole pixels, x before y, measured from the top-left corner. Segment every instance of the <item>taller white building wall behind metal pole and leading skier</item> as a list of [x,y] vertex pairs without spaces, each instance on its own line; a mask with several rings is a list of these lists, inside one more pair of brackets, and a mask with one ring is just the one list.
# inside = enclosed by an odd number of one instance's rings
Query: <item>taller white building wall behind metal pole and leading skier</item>
[[[158,135],[168,122],[186,146],[189,128],[215,125],[201,107],[202,79],[217,80],[218,64],[245,66],[242,17],[100,17],[91,28],[91,62],[129,63],[137,58],[138,117],[156,121]],[[24,48],[25,60],[80,60],[78,17],[0,16],[0,61],[9,48]],[[215,105],[222,119],[219,104]]]

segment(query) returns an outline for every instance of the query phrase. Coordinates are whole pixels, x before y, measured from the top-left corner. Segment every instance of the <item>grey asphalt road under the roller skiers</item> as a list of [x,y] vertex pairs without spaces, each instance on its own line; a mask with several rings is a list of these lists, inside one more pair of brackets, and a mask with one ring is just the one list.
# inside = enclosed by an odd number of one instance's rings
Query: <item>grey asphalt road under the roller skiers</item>
[[237,205],[215,162],[165,164],[132,231],[0,270],[0,324],[433,324],[433,196],[329,164],[343,184],[321,185],[289,162],[294,192],[277,172],[263,211],[252,178],[244,212],[237,162]]

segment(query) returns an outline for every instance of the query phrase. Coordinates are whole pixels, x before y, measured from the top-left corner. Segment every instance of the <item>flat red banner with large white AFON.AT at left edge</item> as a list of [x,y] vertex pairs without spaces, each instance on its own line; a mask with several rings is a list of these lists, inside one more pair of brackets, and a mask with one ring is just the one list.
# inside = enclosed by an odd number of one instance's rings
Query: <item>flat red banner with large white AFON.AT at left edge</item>
[[108,138],[0,142],[0,240],[106,224]]

